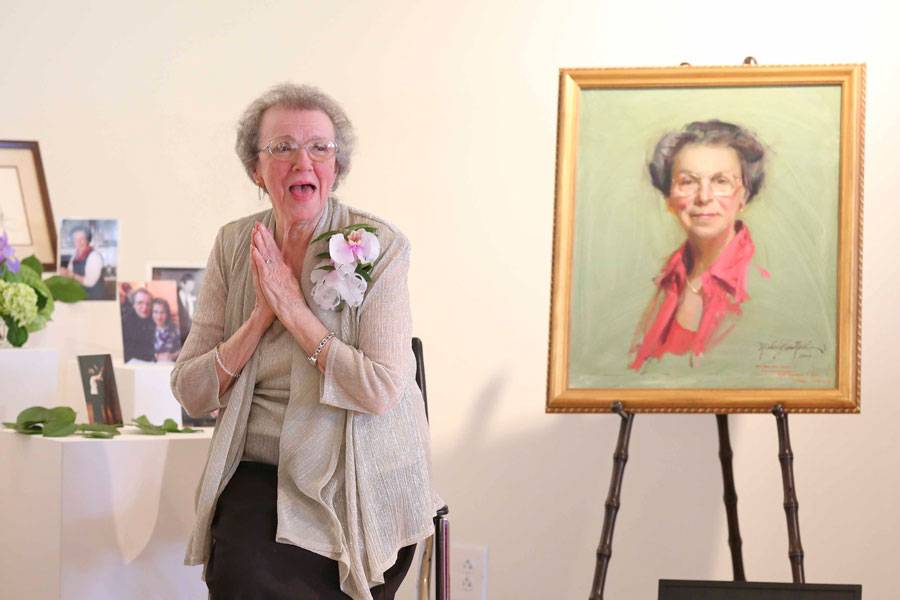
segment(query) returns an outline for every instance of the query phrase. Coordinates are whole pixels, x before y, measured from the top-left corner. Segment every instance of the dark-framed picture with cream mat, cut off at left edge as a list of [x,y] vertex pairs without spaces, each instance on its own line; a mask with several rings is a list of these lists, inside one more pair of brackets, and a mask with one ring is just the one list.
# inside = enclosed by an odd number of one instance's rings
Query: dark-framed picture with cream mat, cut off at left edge
[[19,258],[56,266],[56,222],[37,142],[0,141],[0,229]]

